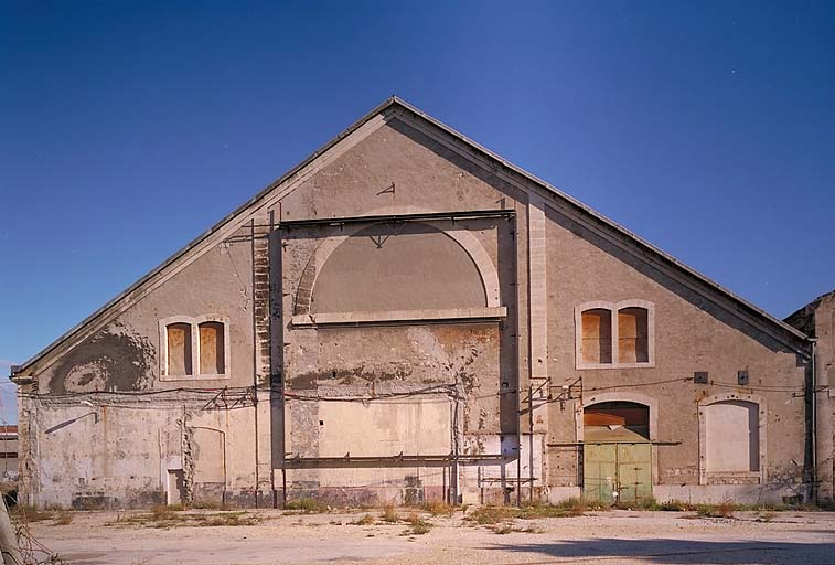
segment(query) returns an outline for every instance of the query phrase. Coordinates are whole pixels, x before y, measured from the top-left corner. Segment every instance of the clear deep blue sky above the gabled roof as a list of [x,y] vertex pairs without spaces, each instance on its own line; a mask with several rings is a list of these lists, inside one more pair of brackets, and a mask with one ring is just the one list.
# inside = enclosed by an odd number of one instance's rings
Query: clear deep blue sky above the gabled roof
[[392,94],[778,317],[835,288],[835,2],[0,0],[0,375]]

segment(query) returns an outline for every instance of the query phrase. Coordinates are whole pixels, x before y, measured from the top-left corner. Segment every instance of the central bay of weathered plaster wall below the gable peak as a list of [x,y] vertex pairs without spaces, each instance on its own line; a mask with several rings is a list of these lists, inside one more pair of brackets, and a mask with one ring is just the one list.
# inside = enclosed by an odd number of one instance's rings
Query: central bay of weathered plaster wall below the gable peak
[[[298,220],[495,210],[512,206],[507,196],[513,192],[495,177],[395,120],[319,171],[283,199],[276,212],[282,220]],[[453,449],[500,454],[499,438],[516,428],[514,228],[512,221],[485,218],[432,222],[431,226],[377,224],[371,228],[374,233],[344,226],[282,231],[282,374],[291,396],[287,401],[286,450],[300,457],[324,457],[326,451],[322,434],[329,422],[322,414],[331,403],[317,405],[293,395],[351,396],[372,403],[389,402],[368,401],[375,395],[409,395],[409,403],[450,406],[446,417],[440,422],[433,418],[420,436],[435,438],[435,426],[446,426],[452,434],[446,438],[447,450],[424,455],[446,455]],[[454,238],[440,232],[451,230],[465,231],[474,238],[497,271],[499,303],[510,310],[504,320],[312,328],[290,323],[293,313],[303,311],[315,318],[322,311],[485,306],[484,284],[472,258]],[[345,233],[351,236],[340,241]],[[317,249],[331,239],[340,246],[320,257]],[[420,265],[431,268],[415,273]],[[408,277],[403,278],[404,274]],[[300,296],[311,296],[311,303],[302,298],[300,305]],[[394,422],[404,408],[389,403],[382,409]],[[424,439],[417,438],[405,451],[419,455]],[[368,451],[367,446],[345,443],[346,452]],[[397,455],[373,439],[370,445],[374,455]],[[363,497],[402,501],[406,487],[414,488],[418,478],[424,495],[436,498],[454,480],[446,468],[398,469],[385,463],[366,469],[288,471],[289,488],[297,489],[297,494],[333,495],[329,489],[350,484],[356,488],[352,495],[357,501],[365,501]]]

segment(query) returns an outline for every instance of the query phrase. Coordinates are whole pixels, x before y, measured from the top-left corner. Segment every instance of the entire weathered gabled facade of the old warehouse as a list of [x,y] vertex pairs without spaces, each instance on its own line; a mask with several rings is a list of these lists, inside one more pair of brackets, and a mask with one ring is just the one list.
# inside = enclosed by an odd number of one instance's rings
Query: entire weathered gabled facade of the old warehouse
[[21,492],[557,501],[629,428],[656,499],[803,500],[812,371],[801,331],[393,98],[14,371]]

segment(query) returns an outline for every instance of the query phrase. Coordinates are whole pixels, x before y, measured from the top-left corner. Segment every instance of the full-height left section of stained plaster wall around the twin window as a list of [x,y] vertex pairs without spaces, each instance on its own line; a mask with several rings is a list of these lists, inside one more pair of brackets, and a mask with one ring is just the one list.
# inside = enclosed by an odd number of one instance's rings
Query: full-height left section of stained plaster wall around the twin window
[[[176,268],[45,367],[36,385],[22,390],[21,425],[29,429],[23,457],[30,469],[21,489],[24,497],[42,505],[75,508],[160,503],[167,501],[168,468],[184,469],[190,495],[197,499],[212,491],[215,501],[235,502],[254,490],[251,392],[244,390],[254,383],[253,250],[247,235],[242,230]],[[228,319],[226,376],[160,380],[159,320],[204,315]],[[215,398],[223,387],[231,388],[224,395],[228,404],[239,402],[236,409],[216,411],[227,402]],[[203,392],[186,392],[194,388]],[[218,441],[226,450],[226,480],[220,484],[217,461],[200,458],[202,449],[216,448]]]

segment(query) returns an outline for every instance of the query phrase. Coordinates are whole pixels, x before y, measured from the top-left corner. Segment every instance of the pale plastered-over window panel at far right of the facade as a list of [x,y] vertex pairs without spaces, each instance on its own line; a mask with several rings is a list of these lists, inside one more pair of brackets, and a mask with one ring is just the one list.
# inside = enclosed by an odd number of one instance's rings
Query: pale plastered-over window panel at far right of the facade
[[752,402],[725,401],[705,406],[707,471],[759,471],[759,405]]

